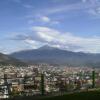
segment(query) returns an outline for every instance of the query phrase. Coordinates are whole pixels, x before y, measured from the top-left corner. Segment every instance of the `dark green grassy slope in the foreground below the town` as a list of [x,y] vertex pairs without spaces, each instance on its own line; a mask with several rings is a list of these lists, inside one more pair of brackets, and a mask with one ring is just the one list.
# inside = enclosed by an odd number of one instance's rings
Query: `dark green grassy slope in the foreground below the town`
[[100,100],[100,91],[72,93],[55,97],[41,97],[40,99],[36,99],[35,97],[22,97],[12,100]]

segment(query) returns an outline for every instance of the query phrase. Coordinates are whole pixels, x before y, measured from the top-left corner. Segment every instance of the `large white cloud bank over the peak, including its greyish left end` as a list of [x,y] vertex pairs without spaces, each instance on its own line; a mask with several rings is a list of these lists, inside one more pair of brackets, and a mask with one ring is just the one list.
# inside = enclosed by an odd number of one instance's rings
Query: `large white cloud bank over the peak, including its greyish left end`
[[29,44],[32,48],[50,45],[75,52],[100,53],[100,37],[80,37],[69,32],[61,32],[49,27],[34,26],[32,33],[16,36]]

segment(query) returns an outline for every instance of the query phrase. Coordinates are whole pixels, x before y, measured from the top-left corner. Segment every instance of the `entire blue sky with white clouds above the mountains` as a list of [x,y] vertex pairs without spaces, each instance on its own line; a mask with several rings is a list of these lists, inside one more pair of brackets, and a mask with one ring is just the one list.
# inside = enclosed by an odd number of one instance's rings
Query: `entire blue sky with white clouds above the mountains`
[[0,0],[0,52],[43,45],[100,53],[100,0]]

